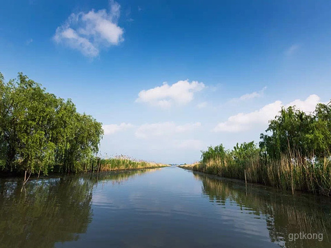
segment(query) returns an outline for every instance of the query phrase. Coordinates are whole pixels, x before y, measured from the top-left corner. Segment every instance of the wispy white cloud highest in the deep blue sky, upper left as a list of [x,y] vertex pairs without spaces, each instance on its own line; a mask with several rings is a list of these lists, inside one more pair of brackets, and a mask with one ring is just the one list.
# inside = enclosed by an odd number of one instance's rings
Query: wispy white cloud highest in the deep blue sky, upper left
[[85,56],[98,56],[102,48],[123,41],[123,29],[117,25],[121,6],[110,1],[110,10],[90,10],[70,14],[53,37],[57,43],[79,50]]

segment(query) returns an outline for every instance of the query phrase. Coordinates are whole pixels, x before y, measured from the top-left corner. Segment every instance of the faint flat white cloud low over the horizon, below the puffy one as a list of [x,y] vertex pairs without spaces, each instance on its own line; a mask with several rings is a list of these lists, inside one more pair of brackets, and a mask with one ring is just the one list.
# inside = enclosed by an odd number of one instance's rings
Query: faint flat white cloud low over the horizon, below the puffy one
[[183,132],[191,132],[198,127],[201,123],[186,123],[184,125],[176,125],[173,122],[143,124],[137,128],[135,136],[137,138],[151,138],[155,136],[170,136]]

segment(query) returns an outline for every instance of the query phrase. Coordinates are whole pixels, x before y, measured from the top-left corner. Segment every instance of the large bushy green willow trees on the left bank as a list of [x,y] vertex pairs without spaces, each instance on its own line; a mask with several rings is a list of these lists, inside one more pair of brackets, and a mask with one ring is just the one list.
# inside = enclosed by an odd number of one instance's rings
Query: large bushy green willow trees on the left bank
[[0,74],[0,169],[48,174],[79,172],[98,152],[103,130],[72,101],[46,92],[19,73],[4,82]]

